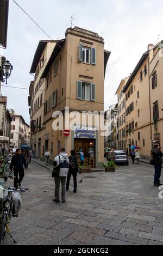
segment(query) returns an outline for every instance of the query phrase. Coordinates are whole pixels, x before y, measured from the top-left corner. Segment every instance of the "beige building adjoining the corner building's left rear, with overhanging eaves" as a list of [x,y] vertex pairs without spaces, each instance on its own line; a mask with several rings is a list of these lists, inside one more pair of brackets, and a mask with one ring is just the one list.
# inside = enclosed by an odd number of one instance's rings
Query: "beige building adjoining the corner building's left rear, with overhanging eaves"
[[[43,156],[44,129],[43,109],[45,102],[45,79],[42,79],[42,72],[52,54],[57,40],[41,40],[37,46],[30,74],[35,74],[34,81],[29,86],[29,114],[31,120],[31,146],[36,149],[36,155],[40,159]],[[34,123],[35,122],[35,123]],[[41,148],[42,147],[42,148]]]

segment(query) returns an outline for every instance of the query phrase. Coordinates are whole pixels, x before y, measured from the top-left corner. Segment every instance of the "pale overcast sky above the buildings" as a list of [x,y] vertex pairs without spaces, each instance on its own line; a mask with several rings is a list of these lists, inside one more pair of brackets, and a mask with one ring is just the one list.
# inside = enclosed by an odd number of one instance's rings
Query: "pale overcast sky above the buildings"
[[[9,1],[7,49],[0,53],[14,66],[8,86],[29,88],[29,75],[39,40],[49,39],[17,5]],[[162,0],[16,0],[53,39],[65,37],[70,17],[73,24],[97,32],[111,51],[105,76],[105,110],[116,103],[115,92],[122,78],[129,76],[148,44],[163,39]],[[4,84],[3,84],[4,85]],[[29,123],[28,90],[2,87],[8,108],[15,109]]]

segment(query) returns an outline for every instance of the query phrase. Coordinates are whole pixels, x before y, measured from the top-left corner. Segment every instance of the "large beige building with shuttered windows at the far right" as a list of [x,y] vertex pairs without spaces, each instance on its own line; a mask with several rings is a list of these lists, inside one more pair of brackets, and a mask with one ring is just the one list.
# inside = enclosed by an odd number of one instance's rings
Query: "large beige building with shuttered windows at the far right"
[[148,45],[123,92],[126,94],[126,140],[150,158],[155,142],[163,147],[163,51],[162,44]]

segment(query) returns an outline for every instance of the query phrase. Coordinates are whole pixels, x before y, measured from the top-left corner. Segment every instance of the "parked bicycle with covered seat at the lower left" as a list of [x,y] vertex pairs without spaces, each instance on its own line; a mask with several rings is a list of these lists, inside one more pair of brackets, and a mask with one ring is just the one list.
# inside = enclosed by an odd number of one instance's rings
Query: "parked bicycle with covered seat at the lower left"
[[[18,212],[22,208],[22,199],[21,192],[29,191],[28,188],[19,188],[14,190],[13,188],[8,188],[5,190],[0,187],[1,190],[4,191],[2,202],[0,202],[0,245],[6,233],[10,235],[10,237],[14,240],[9,232],[9,224],[12,217],[18,217]],[[1,199],[0,199],[1,200]],[[16,243],[16,241],[14,240]]]

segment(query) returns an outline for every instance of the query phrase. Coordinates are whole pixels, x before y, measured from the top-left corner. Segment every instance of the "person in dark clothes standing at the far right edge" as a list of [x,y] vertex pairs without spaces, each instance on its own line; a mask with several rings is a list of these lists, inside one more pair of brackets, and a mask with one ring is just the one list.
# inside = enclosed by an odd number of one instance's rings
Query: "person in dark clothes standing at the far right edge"
[[154,145],[154,149],[152,149],[151,155],[153,156],[154,170],[155,170],[154,186],[159,187],[159,186],[162,186],[162,184],[160,183],[160,176],[161,176],[161,166],[162,166],[163,154],[162,154],[158,144]]

